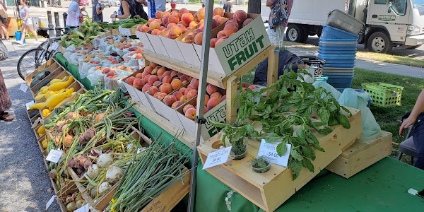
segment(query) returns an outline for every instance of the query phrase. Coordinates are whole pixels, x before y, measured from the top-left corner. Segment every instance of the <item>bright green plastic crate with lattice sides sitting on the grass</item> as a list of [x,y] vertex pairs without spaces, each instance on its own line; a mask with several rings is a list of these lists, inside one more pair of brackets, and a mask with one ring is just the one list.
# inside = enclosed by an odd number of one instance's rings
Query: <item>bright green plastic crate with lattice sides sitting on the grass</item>
[[404,87],[387,83],[363,83],[363,90],[372,98],[371,105],[394,107],[401,105],[402,90]]

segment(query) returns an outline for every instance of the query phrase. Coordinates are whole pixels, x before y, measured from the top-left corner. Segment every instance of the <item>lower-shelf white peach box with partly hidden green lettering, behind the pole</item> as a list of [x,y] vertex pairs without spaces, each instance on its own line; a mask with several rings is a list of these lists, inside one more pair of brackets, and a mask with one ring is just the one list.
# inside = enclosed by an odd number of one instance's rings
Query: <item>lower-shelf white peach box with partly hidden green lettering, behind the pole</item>
[[[181,121],[182,125],[184,126],[185,131],[190,136],[196,136],[196,122],[194,120],[189,119],[185,117],[185,115],[182,113],[182,110],[185,105],[191,104],[196,106],[196,100],[197,96],[189,100],[188,102],[185,102],[183,105],[177,108],[175,112],[177,112],[177,115],[179,117],[179,120]],[[225,122],[227,115],[227,107],[226,107],[226,101],[220,102],[218,105],[213,107],[211,110],[206,112],[204,114],[204,118],[206,119],[206,123],[203,124],[201,127],[201,136],[200,141],[204,143],[206,140],[211,139],[212,136],[218,134],[218,132],[221,129],[216,128],[209,122],[209,120],[213,120],[213,122]]]

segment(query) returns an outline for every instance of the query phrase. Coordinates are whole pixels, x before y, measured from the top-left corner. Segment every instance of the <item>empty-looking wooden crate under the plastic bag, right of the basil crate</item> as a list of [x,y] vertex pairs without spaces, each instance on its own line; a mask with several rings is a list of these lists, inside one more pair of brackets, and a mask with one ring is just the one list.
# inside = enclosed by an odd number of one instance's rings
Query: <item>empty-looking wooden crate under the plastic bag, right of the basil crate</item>
[[391,133],[382,131],[375,139],[356,141],[325,168],[348,179],[390,155],[391,138]]

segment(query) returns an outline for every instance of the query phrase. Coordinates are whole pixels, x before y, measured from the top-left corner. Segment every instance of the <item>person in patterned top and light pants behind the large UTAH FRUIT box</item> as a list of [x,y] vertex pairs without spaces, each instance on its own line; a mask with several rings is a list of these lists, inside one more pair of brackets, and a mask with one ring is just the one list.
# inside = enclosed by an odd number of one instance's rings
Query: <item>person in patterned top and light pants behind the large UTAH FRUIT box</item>
[[[277,25],[275,28],[273,29],[268,28],[266,33],[268,33],[268,37],[269,37],[269,40],[271,41],[271,44],[278,45],[281,48],[284,46],[283,35],[284,35],[285,28],[287,28],[288,16],[290,16],[290,11],[293,6],[293,0],[266,0],[266,6],[271,8],[271,13],[272,13],[272,8],[276,6],[277,4],[279,4],[280,1],[282,1],[283,7],[284,7],[281,9],[285,9],[285,11],[287,11],[287,18],[285,18],[285,20],[283,20],[283,22],[280,25]],[[272,15],[271,13],[269,14],[269,21],[271,21],[271,15]]]

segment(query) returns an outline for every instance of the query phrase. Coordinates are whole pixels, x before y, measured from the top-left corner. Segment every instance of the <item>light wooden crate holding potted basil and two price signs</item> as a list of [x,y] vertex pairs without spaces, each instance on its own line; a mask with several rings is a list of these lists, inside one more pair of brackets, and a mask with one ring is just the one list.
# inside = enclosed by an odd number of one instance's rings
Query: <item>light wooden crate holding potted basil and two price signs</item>
[[[271,170],[264,174],[253,172],[249,161],[254,158],[260,146],[260,141],[247,139],[247,156],[242,160],[230,160],[228,163],[208,168],[206,171],[256,204],[264,211],[274,211],[281,206],[295,192],[338,157],[346,146],[352,145],[362,136],[362,122],[359,110],[348,108],[353,116],[349,117],[351,129],[344,129],[341,125],[331,126],[333,131],[326,136],[315,134],[319,145],[325,152],[315,150],[317,158],[312,161],[315,171],[312,173],[306,168],[293,181],[293,171],[271,164]],[[213,136],[198,147],[201,162],[205,163],[208,153],[216,151],[222,143],[223,134]]]

